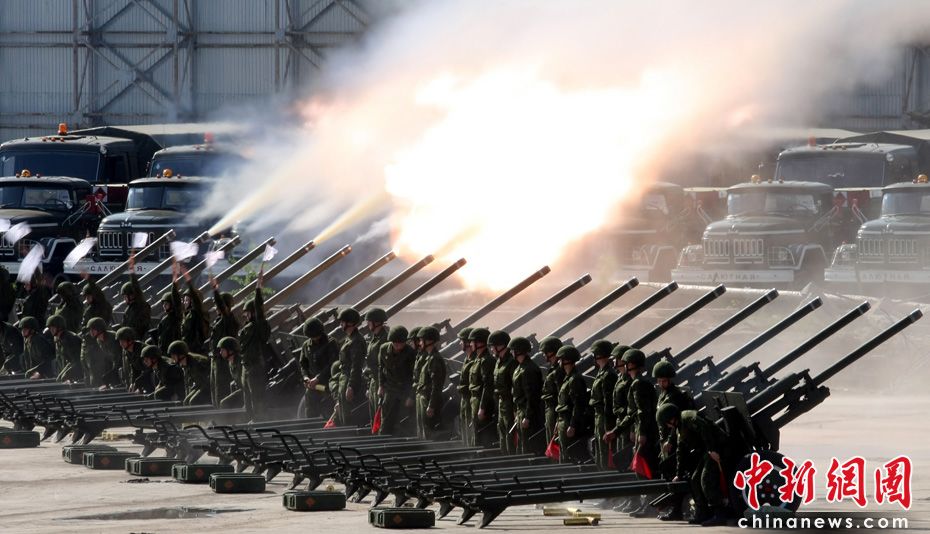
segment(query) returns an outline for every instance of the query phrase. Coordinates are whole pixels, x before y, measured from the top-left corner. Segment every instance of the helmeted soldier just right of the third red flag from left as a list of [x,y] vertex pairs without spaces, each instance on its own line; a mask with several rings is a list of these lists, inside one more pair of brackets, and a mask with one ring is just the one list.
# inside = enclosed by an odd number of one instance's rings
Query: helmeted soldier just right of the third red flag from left
[[583,462],[590,458],[585,439],[590,435],[590,399],[584,378],[575,367],[581,354],[571,345],[563,345],[558,352],[559,363],[565,371],[565,381],[559,389],[560,462]]

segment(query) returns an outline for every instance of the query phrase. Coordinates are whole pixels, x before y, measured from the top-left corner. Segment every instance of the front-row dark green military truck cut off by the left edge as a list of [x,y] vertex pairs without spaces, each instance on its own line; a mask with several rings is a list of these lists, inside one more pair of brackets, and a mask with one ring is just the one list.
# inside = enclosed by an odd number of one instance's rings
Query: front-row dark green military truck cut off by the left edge
[[0,263],[18,273],[22,259],[35,244],[45,248],[42,270],[62,272],[65,256],[84,237],[93,235],[104,216],[103,207],[87,180],[36,177],[29,169],[19,176],[0,178],[0,219],[11,226],[26,223],[31,231],[16,243],[0,239]]

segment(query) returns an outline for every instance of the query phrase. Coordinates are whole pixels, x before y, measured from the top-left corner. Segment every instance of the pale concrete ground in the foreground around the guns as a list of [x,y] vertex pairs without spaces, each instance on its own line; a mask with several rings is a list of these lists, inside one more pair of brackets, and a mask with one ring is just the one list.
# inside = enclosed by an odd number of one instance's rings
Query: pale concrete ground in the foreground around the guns
[[[782,451],[796,460],[811,459],[819,472],[818,499],[808,510],[855,511],[854,505],[827,505],[823,501],[824,480],[832,456],[864,456],[870,466],[877,466],[901,454],[914,464],[914,505],[906,514],[895,507],[882,511],[907,517],[909,530],[930,530],[930,427],[927,413],[930,397],[854,397],[835,392],[833,397],[813,412],[792,423],[783,434]],[[128,441],[112,442],[120,449],[138,450]],[[345,511],[299,513],[281,505],[288,478],[280,475],[269,483],[261,495],[221,495],[203,485],[178,484],[167,478],[153,478],[148,483],[129,483],[136,479],[125,472],[92,471],[61,460],[60,445],[43,443],[35,449],[0,451],[0,531],[39,532],[255,532],[314,531],[325,528],[330,534],[368,530],[364,510],[367,504],[349,504]],[[871,486],[870,486],[871,487]],[[870,496],[872,493],[870,492]],[[146,511],[179,506],[212,510],[239,510],[191,519],[75,519],[95,514]],[[595,503],[577,503],[591,511]],[[874,508],[874,505],[871,506]],[[436,528],[450,531],[474,529],[455,524],[457,513],[438,521]],[[544,517],[541,510],[525,506],[507,510],[487,530],[525,533],[544,532],[563,527],[561,518]],[[655,519],[631,519],[624,514],[603,512],[599,531],[636,529],[654,534],[680,531],[689,527]],[[702,532],[732,532],[732,529],[706,529]]]

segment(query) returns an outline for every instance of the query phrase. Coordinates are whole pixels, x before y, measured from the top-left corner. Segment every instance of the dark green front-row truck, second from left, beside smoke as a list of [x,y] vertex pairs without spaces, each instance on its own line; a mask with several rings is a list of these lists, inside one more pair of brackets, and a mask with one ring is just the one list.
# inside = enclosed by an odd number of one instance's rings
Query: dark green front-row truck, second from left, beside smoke
[[[97,230],[97,247],[93,257],[79,262],[76,274],[86,271],[104,275],[126,261],[133,245],[133,234],[146,233],[153,241],[174,230],[178,241],[190,241],[209,228],[215,220],[198,218],[196,213],[209,193],[213,180],[194,176],[140,178],[129,184],[126,211],[107,216]],[[138,273],[167,259],[171,250],[166,243],[156,253],[136,265]]]

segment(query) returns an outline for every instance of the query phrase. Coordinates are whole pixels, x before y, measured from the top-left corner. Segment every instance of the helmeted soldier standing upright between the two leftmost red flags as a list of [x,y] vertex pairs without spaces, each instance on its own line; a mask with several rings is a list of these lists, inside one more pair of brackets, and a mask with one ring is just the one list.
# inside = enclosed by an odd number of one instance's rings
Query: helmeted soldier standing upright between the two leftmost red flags
[[345,333],[345,339],[339,347],[339,368],[342,376],[339,380],[339,409],[336,411],[336,424],[363,425],[365,413],[359,406],[365,402],[365,382],[362,369],[365,368],[367,345],[365,338],[358,332],[362,317],[354,308],[339,312],[339,323]]

